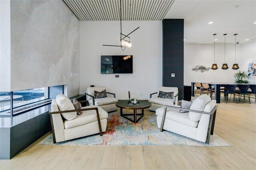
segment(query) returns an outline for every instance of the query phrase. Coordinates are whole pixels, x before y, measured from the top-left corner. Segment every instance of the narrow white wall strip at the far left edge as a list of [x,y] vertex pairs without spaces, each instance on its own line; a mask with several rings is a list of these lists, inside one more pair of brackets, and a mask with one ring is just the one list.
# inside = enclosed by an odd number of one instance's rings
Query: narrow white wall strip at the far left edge
[[11,89],[11,1],[0,0],[0,91]]

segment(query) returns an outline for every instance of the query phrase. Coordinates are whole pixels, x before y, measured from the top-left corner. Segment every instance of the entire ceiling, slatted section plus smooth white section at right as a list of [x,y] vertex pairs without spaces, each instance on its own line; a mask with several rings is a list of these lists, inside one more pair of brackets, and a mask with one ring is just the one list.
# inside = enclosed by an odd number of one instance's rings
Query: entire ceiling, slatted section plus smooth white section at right
[[[64,0],[81,21],[120,20],[120,0]],[[184,19],[185,43],[256,40],[256,0],[122,0],[122,20]],[[208,24],[213,22],[212,24]],[[247,41],[247,42],[249,42]]]

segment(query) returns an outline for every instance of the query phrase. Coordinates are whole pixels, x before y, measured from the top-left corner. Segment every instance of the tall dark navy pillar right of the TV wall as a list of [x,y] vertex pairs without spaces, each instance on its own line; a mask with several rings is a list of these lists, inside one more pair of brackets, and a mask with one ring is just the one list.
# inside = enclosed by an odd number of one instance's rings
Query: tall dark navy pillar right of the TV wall
[[[178,99],[184,99],[184,20],[163,20],[163,82],[178,87]],[[175,73],[175,77],[171,74]]]

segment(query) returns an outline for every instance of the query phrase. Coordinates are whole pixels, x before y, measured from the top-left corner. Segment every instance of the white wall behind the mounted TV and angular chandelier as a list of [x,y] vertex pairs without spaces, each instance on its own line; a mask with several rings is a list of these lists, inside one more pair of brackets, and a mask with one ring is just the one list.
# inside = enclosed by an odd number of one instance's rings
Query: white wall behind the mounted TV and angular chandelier
[[[122,33],[130,34],[132,47],[103,44],[120,44],[120,22],[80,22],[80,94],[90,85],[106,86],[118,99],[131,97],[148,99],[162,85],[162,22],[122,22]],[[101,55],[133,55],[133,73],[100,73]],[[143,93],[143,96],[140,96]]]

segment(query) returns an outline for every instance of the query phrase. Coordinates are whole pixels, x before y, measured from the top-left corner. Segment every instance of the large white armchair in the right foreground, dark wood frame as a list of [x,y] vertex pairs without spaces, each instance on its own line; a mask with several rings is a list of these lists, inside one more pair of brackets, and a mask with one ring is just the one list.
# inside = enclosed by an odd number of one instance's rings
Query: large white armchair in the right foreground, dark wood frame
[[[213,134],[216,116],[216,100],[201,95],[192,103],[190,109],[165,106],[156,110],[157,126],[162,132],[168,130],[209,144]],[[180,113],[180,110],[188,111]]]

